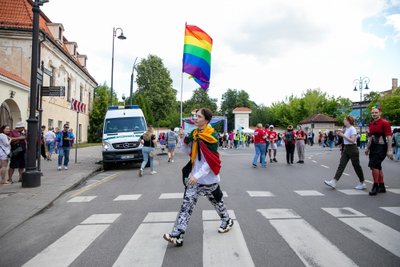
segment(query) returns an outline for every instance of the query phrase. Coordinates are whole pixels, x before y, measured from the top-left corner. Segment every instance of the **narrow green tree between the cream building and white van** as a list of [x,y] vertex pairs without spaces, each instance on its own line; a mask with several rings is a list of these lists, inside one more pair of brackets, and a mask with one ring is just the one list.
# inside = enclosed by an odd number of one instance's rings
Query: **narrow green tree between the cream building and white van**
[[[110,104],[110,88],[104,83],[94,90],[93,109],[89,114],[89,143],[101,142],[104,117]],[[116,97],[113,99],[116,104]]]

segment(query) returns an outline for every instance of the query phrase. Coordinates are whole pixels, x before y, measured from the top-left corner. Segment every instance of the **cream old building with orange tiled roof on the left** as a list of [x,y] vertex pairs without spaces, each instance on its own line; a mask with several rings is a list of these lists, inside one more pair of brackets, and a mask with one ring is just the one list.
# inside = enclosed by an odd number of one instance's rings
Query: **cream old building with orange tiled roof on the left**
[[[0,122],[12,127],[29,117],[32,4],[31,0],[0,0]],[[61,23],[53,23],[41,13],[39,25],[40,61],[46,70],[43,86],[65,87],[63,96],[43,97],[42,125],[62,128],[67,123],[78,141],[86,142],[97,87],[86,68],[87,56],[78,53],[76,42],[67,40]],[[84,103],[86,109],[79,114],[72,110],[73,99]]]

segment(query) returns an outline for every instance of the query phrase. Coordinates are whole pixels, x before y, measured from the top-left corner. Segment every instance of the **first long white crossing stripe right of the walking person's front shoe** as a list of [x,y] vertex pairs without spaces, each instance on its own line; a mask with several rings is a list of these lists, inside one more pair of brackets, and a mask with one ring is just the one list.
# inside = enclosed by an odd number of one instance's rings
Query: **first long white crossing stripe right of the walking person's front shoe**
[[[258,211],[263,215],[271,213],[270,210]],[[287,209],[286,214],[283,211],[284,209],[281,209],[280,212],[283,219],[265,217],[305,266],[357,266],[307,221],[299,218],[293,210]]]

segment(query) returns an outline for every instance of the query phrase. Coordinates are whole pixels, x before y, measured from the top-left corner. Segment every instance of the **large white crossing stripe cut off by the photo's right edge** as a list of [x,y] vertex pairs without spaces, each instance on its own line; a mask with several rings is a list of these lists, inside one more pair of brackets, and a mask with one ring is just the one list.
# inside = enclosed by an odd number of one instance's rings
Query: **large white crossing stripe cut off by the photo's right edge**
[[[338,210],[339,209],[340,208],[338,208]],[[331,211],[332,210],[331,208]],[[332,213],[330,214],[332,215]],[[343,218],[342,216],[334,217],[370,239],[372,242],[378,244],[397,257],[400,257],[400,232],[365,215],[355,218]]]

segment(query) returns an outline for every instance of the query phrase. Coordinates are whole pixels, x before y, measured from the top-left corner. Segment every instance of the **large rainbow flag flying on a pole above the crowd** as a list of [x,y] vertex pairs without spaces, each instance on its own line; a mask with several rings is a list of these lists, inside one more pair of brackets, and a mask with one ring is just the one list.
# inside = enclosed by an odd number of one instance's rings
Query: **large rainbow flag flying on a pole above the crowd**
[[212,38],[194,25],[186,25],[182,72],[193,76],[204,90],[210,85]]

